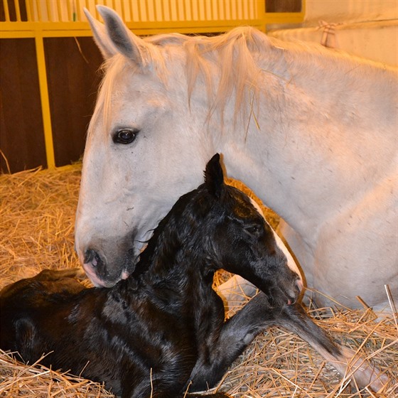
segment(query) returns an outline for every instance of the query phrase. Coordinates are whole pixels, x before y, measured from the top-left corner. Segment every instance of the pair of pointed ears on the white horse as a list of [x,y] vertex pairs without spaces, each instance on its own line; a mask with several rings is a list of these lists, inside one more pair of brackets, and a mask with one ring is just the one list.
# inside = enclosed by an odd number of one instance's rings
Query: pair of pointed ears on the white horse
[[95,43],[105,59],[120,53],[140,67],[146,66],[146,44],[134,35],[115,11],[107,6],[97,6],[99,14],[104,19],[104,24],[92,17],[85,9],[85,15],[90,22]]

